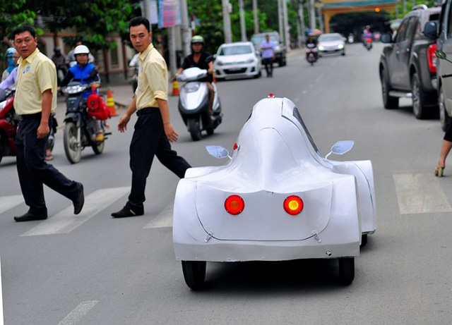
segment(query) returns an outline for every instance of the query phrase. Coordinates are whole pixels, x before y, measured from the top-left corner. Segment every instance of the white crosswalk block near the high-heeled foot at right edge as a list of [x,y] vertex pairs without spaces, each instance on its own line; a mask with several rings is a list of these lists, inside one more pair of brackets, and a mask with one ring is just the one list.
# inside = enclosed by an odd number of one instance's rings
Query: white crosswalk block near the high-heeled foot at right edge
[[432,174],[393,174],[400,214],[451,212],[439,178]]

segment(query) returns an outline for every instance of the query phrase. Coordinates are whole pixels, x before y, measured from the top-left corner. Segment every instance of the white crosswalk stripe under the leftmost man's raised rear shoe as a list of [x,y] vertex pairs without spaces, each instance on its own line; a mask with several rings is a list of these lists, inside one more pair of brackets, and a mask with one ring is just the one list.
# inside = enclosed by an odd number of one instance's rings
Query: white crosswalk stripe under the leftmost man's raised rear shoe
[[120,197],[130,192],[130,187],[125,188],[102,188],[85,197],[85,204],[80,214],[73,214],[73,206],[59,211],[46,221],[42,221],[37,226],[31,228],[21,236],[54,235],[57,233],[70,233],[82,223],[88,221],[95,214],[99,213]]

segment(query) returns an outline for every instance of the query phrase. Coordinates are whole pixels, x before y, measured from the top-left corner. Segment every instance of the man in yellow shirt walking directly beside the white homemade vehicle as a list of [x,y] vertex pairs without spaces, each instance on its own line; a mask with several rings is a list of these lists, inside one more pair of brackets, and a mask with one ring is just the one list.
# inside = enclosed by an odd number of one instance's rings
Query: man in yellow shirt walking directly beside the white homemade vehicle
[[177,141],[178,135],[169,120],[168,70],[165,59],[151,43],[152,32],[149,30],[149,20],[144,17],[129,22],[131,42],[140,52],[140,68],[135,97],[126,114],[119,119],[119,132],[126,130],[133,113],[136,112],[138,120],[130,144],[131,193],[124,208],[112,213],[114,218],[144,214],[146,178],[154,155],[179,178],[183,178],[191,167],[184,158],[177,156],[169,143]]

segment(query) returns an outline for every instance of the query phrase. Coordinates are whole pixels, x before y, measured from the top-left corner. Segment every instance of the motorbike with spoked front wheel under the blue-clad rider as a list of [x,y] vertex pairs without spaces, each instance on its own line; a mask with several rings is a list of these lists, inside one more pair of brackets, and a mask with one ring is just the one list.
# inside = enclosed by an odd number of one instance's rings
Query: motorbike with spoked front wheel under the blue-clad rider
[[[91,86],[80,82],[71,82],[61,91],[66,96],[66,116],[64,118],[64,153],[71,164],[76,164],[81,159],[81,152],[85,147],[92,147],[95,154],[102,154],[105,146],[108,127],[105,120],[95,120],[88,114],[87,99],[83,93],[90,90]],[[98,133],[104,135],[104,140],[97,141]]]

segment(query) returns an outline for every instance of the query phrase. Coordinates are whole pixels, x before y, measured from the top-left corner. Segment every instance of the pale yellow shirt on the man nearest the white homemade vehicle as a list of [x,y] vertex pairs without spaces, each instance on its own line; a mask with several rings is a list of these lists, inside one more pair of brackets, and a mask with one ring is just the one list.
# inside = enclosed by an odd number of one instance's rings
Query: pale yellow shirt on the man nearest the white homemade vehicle
[[168,69],[163,56],[149,44],[138,56],[138,87],[136,88],[136,109],[158,107],[157,99],[168,99]]

